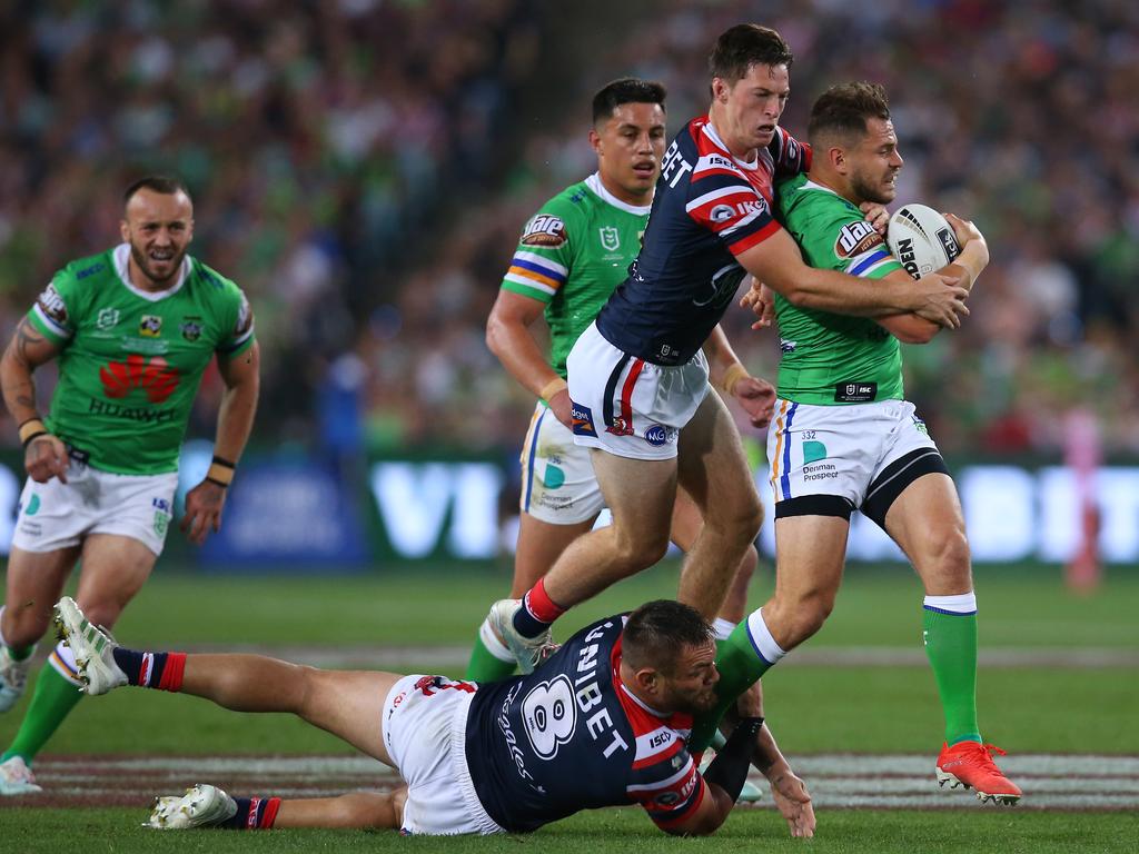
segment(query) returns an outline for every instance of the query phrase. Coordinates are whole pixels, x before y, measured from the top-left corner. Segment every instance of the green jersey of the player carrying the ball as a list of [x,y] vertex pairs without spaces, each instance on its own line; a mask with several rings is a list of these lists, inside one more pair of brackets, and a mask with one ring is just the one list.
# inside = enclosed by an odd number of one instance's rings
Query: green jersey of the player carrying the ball
[[[804,174],[779,184],[780,220],[813,268],[880,279],[901,270],[862,212]],[[776,295],[778,394],[814,405],[902,397],[898,339],[866,318],[798,309]]]

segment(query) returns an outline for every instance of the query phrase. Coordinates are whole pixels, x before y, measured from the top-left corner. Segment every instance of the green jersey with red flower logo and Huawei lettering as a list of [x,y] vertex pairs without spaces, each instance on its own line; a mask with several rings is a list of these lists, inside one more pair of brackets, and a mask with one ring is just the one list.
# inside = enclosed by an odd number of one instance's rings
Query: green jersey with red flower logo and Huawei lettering
[[178,282],[159,293],[128,277],[130,246],[73,261],[51,279],[27,320],[60,347],[48,429],[122,475],[178,469],[186,422],[216,352],[253,344],[241,290],[187,256]]

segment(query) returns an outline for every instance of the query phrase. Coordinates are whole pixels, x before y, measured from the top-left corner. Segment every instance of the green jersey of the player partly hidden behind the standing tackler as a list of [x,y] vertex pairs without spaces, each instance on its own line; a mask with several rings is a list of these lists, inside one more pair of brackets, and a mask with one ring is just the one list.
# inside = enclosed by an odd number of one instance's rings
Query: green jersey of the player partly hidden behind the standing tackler
[[640,252],[650,207],[616,198],[595,172],[542,205],[523,229],[502,287],[546,303],[550,367],[562,377],[574,342]]

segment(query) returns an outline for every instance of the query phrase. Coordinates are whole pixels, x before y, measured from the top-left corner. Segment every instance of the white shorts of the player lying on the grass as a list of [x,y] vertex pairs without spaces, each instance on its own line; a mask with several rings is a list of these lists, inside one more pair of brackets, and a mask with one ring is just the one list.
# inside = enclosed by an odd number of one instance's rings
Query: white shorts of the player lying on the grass
[[384,744],[408,783],[402,830],[424,836],[505,832],[483,808],[467,767],[472,682],[404,676],[384,700]]

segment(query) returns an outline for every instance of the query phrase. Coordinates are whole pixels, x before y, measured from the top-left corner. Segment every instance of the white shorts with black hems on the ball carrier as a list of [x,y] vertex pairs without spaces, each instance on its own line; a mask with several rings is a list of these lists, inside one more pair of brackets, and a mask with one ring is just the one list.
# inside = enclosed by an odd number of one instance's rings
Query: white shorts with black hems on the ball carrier
[[819,407],[777,400],[768,459],[777,517],[779,502],[810,495],[863,508],[879,490],[888,494],[918,473],[944,470],[925,421],[908,401]]

